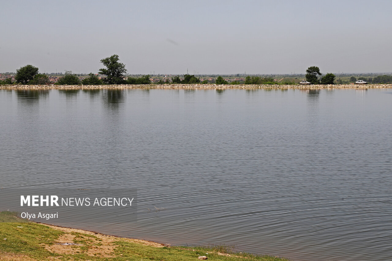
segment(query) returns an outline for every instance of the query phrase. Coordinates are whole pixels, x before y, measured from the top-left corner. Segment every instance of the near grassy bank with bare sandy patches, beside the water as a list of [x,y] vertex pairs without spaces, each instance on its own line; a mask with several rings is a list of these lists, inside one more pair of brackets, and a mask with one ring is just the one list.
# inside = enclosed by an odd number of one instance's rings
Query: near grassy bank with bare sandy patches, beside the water
[[[0,260],[198,260],[287,261],[279,257],[235,253],[229,247],[173,247],[140,239],[25,222],[0,212]],[[7,221],[6,223],[4,221]],[[207,254],[208,253],[208,254]]]

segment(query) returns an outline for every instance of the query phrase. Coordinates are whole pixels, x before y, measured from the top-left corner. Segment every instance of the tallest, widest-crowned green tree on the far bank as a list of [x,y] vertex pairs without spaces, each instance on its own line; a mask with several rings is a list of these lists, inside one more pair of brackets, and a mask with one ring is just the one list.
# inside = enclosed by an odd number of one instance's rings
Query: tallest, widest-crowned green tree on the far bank
[[100,74],[106,75],[103,81],[107,84],[122,84],[124,83],[124,74],[127,72],[125,69],[125,64],[119,62],[117,54],[113,54],[110,57],[103,58],[101,63],[105,65],[106,68],[100,69],[98,72]]

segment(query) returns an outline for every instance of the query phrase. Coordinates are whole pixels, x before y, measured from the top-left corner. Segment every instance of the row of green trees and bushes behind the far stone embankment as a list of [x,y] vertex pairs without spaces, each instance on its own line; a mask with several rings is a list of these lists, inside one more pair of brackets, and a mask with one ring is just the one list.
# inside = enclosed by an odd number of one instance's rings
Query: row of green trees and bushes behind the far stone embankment
[[[127,70],[125,69],[125,64],[120,63],[120,59],[118,55],[114,54],[110,57],[101,59],[101,63],[106,68],[101,68],[98,71],[98,74],[105,75],[105,77],[98,77],[97,74],[93,74],[92,72],[84,77],[83,79],[79,79],[76,74],[73,74],[71,71],[66,71],[64,76],[59,77],[57,79],[56,85],[119,85],[119,84],[129,84],[129,85],[149,85],[151,84],[151,76],[149,74],[142,75],[141,77],[125,77]],[[332,73],[328,73],[325,76],[321,76],[321,72],[318,67],[312,66],[306,70],[307,74],[305,75],[306,80],[312,84],[334,84],[336,76]],[[80,74],[79,74],[80,75]],[[237,74],[239,77],[241,74]],[[231,79],[232,80],[232,79]],[[241,83],[244,83],[243,78],[241,79]],[[283,80],[283,78],[281,79]],[[246,85],[293,85],[298,83],[297,78],[286,79],[285,81],[275,81],[272,75],[270,76],[246,76],[245,84]],[[350,78],[350,82],[355,82],[356,77],[352,76]],[[392,76],[391,75],[381,75],[374,77],[359,77],[358,80],[367,81],[368,83],[391,83]],[[348,83],[349,81],[343,81],[342,79],[338,79],[336,81],[338,84]],[[22,85],[46,85],[49,84],[49,76],[47,74],[38,73],[38,68],[33,65],[26,65],[24,67],[20,67],[16,70],[15,81],[12,81],[12,78],[7,78],[4,80],[0,80],[0,85],[10,85],[10,84],[22,84]],[[207,84],[209,81],[207,79],[200,81],[200,78],[197,78],[194,75],[185,74],[183,79],[180,78],[179,75],[171,77],[171,79],[166,78],[165,81],[160,79],[157,84]],[[229,84],[226,79],[223,79],[222,76],[218,76],[215,80],[212,80],[211,83],[215,83],[217,85]],[[238,85],[241,84],[238,79],[232,81],[230,84]]]

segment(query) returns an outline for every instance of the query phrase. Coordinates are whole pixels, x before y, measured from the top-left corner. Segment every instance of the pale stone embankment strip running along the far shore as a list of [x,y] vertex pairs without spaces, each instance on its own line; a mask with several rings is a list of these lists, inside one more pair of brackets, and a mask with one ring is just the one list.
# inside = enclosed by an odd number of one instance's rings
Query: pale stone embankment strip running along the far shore
[[209,89],[388,89],[392,84],[367,85],[216,85],[216,84],[163,84],[163,85],[0,85],[0,90],[31,90],[31,89],[58,89],[58,90],[87,90],[87,89],[169,89],[169,90],[209,90]]

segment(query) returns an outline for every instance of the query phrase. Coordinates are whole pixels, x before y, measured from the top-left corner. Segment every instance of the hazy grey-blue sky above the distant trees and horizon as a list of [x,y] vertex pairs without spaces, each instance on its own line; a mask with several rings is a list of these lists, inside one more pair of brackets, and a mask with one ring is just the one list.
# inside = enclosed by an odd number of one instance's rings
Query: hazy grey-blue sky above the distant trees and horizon
[[392,1],[2,1],[0,72],[392,72]]

